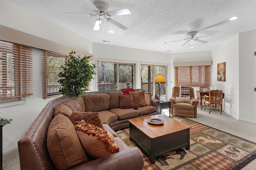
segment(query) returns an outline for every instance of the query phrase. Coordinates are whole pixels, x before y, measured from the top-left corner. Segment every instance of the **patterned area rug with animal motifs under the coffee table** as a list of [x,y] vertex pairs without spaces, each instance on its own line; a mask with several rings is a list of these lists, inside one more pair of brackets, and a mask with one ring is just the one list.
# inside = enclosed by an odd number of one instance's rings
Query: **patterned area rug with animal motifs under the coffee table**
[[[155,164],[150,164],[142,151],[144,170],[240,170],[256,158],[256,143],[183,117],[173,119],[191,126],[190,150],[182,148],[166,153]],[[129,140],[129,128],[116,133],[128,147],[137,147]]]

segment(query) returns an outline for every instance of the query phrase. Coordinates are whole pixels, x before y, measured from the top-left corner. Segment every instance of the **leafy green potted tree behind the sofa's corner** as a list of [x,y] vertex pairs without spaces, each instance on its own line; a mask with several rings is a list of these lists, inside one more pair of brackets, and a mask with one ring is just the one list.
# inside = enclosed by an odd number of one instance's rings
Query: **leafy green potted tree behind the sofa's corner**
[[96,74],[94,71],[96,65],[89,61],[92,56],[85,55],[81,58],[74,51],[69,53],[68,56],[70,59],[64,66],[61,66],[63,71],[58,74],[60,77],[58,82],[62,85],[59,92],[62,95],[79,96],[88,90],[86,87],[93,79],[93,75]]

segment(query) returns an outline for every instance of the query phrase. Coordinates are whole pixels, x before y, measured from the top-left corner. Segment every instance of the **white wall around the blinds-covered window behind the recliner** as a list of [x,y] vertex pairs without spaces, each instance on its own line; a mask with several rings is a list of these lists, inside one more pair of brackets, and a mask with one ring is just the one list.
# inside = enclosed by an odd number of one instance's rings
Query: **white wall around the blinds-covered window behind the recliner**
[[[172,88],[174,87],[174,62],[188,62],[188,61],[212,61],[211,51],[201,51],[201,52],[192,52],[192,53],[172,53],[170,59],[170,95],[172,95]],[[196,98],[196,90],[199,90],[199,87],[194,88],[194,95]]]

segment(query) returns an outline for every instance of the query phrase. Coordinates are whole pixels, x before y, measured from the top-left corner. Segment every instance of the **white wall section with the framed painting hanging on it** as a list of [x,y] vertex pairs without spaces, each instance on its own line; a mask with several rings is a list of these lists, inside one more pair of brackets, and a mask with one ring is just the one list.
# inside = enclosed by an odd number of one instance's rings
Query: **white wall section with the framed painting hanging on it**
[[[238,35],[212,51],[212,88],[223,90],[224,111],[239,118],[239,44]],[[217,81],[217,64],[226,62],[226,82]],[[231,108],[232,104],[232,108]]]

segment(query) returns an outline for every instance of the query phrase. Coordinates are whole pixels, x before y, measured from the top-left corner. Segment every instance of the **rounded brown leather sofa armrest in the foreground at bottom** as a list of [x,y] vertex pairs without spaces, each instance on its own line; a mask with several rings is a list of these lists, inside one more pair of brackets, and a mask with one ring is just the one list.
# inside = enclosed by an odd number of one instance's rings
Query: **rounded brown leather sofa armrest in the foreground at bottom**
[[137,147],[123,150],[91,162],[71,168],[72,170],[142,170],[143,155]]

